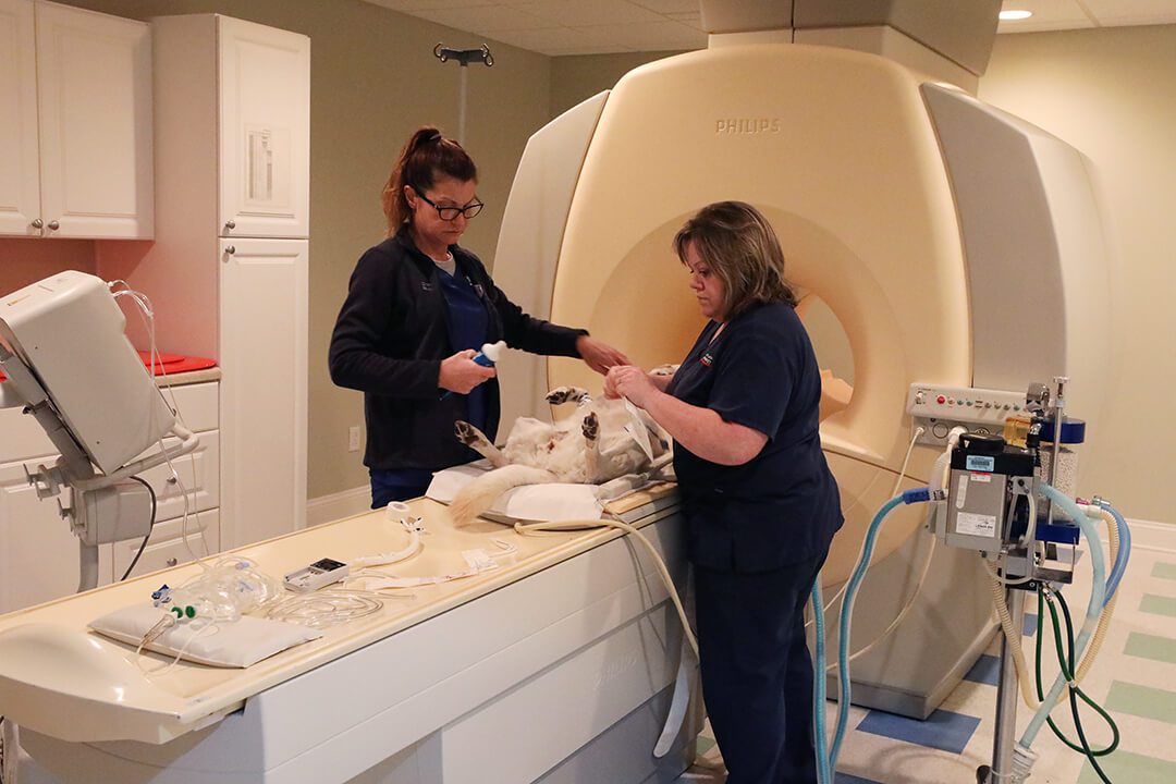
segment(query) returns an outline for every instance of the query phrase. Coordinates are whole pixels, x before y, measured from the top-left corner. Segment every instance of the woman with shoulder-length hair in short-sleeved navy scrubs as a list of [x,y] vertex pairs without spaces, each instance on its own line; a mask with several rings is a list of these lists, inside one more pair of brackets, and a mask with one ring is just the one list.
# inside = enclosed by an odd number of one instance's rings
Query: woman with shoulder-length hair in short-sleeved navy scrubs
[[674,437],[702,691],[727,784],[816,782],[804,604],[842,523],[816,356],[757,209],[703,207],[674,249],[707,324],[673,377],[619,366],[604,391]]

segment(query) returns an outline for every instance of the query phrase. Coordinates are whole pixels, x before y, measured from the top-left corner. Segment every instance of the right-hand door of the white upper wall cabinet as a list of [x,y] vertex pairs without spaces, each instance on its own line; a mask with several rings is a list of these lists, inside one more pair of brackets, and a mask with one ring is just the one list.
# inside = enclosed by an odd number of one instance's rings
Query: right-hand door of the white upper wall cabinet
[[45,236],[151,237],[151,28],[36,4],[36,68]]

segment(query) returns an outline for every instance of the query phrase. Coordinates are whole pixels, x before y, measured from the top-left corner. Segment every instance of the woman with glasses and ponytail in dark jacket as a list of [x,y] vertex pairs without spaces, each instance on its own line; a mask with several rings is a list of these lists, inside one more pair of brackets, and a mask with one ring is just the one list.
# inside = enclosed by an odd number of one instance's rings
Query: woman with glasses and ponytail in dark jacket
[[329,351],[332,380],[363,393],[373,509],[425,495],[433,471],[477,457],[454,437],[455,421],[494,438],[495,371],[473,360],[483,343],[579,356],[597,373],[627,363],[583,329],[528,316],[457,244],[482,202],[456,141],[417,129],[381,203],[388,237],[355,266]]

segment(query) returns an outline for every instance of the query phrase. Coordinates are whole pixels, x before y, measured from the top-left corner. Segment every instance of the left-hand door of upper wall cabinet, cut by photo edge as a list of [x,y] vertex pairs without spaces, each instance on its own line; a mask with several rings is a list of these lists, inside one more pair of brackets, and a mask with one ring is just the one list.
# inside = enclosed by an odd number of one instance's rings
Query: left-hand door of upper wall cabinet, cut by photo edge
[[0,234],[40,236],[33,0],[0,0]]

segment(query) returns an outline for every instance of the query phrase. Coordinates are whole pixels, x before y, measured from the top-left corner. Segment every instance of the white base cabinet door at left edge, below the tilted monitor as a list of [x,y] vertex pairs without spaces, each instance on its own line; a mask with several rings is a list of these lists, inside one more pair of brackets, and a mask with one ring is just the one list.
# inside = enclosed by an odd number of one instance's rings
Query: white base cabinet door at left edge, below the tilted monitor
[[[38,462],[49,463],[51,458]],[[58,498],[69,505],[69,491]],[[78,590],[78,537],[58,514],[58,498],[38,498],[20,463],[0,465],[0,612]],[[99,551],[99,585],[111,582],[111,545]]]

